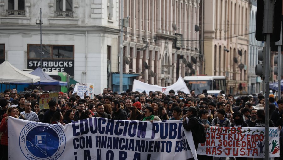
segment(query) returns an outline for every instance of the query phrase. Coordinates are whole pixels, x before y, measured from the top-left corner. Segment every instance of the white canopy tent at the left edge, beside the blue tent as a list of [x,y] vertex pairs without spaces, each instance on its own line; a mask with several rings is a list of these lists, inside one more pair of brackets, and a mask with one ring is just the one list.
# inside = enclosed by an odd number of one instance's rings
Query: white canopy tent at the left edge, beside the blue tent
[[20,71],[8,61],[0,64],[0,83],[36,83],[40,81],[39,76]]

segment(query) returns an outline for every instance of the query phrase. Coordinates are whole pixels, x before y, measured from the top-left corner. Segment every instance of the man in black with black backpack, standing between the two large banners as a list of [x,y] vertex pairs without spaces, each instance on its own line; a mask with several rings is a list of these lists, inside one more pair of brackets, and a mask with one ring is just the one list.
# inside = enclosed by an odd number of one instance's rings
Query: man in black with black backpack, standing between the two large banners
[[[188,109],[186,109],[186,111],[187,111],[187,114],[186,114],[186,118],[183,120],[183,127],[184,127],[185,130],[191,131],[192,137],[193,137],[193,140],[194,140],[194,145],[195,145],[195,148],[197,150],[198,143],[200,141],[203,141],[203,138],[204,138],[204,142],[206,140],[206,137],[205,137],[206,136],[206,130],[204,129],[203,125],[201,125],[198,122],[197,108],[196,107],[189,107]],[[184,117],[185,117],[185,115],[184,115]],[[201,134],[201,132],[203,132],[203,131],[205,133]],[[199,157],[199,155],[197,155],[197,157]]]

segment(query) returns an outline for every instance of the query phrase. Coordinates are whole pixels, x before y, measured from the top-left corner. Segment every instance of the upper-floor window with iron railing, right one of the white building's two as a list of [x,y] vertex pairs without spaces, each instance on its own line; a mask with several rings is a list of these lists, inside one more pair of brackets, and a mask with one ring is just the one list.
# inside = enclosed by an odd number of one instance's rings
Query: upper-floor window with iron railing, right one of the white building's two
[[73,0],[56,0],[56,17],[73,17]]

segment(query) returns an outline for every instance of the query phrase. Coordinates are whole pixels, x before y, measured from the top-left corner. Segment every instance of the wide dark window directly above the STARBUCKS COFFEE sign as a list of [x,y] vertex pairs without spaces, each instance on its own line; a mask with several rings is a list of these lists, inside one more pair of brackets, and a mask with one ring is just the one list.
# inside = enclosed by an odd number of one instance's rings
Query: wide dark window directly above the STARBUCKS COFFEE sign
[[[28,45],[28,57],[40,59],[40,45]],[[42,59],[74,59],[74,45],[42,45]]]

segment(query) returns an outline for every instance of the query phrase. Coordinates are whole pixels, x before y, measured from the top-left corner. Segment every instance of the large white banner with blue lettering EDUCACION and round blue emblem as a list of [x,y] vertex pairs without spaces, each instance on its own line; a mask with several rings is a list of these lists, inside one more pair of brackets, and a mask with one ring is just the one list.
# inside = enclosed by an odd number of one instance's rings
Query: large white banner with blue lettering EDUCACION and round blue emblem
[[193,160],[182,121],[89,118],[63,126],[9,117],[8,133],[9,159]]

